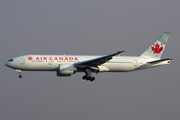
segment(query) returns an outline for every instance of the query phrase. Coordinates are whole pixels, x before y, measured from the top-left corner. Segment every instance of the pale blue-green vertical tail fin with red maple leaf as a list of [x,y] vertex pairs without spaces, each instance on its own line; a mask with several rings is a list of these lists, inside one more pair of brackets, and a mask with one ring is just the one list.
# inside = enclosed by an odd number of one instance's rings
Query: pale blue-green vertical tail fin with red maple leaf
[[160,59],[170,32],[164,32],[140,57]]

